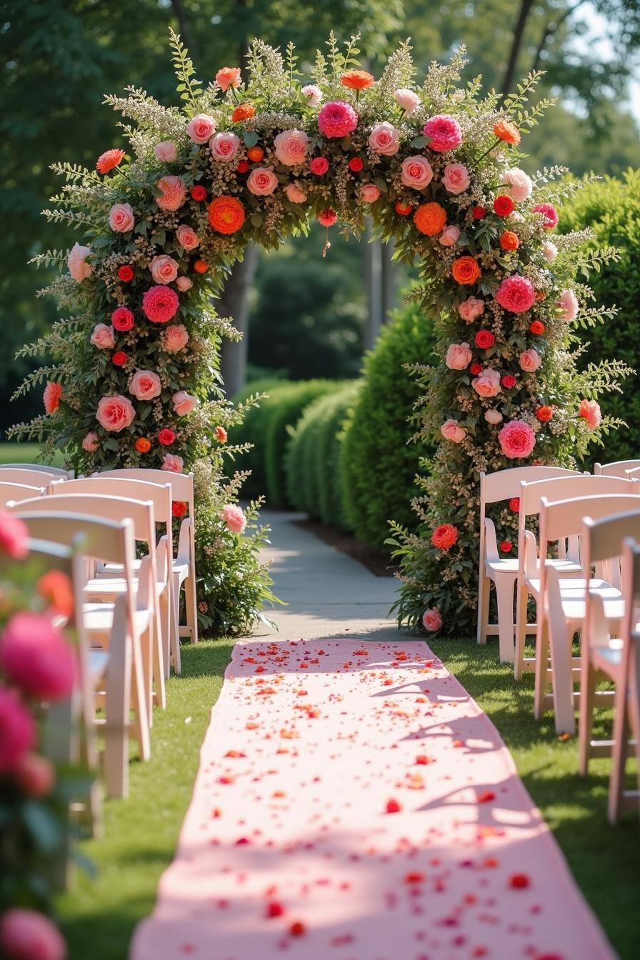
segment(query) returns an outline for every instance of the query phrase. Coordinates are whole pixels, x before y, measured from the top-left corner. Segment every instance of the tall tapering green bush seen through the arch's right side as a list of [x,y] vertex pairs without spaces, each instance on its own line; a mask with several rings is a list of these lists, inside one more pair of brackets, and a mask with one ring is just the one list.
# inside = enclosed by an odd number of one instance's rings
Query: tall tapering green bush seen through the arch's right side
[[378,548],[389,536],[389,520],[412,522],[411,499],[422,440],[408,443],[410,419],[420,388],[405,364],[433,358],[432,321],[411,303],[395,311],[367,354],[364,385],[345,427],[341,450],[344,508],[360,540]]

